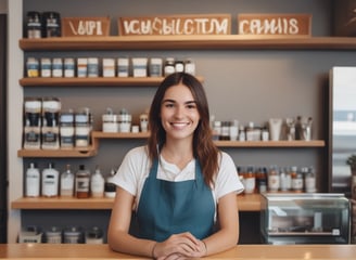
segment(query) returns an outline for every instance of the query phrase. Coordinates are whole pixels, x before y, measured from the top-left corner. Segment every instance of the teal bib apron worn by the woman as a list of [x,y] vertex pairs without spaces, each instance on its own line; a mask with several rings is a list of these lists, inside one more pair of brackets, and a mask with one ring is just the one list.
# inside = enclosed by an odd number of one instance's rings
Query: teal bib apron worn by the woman
[[144,181],[137,209],[138,236],[157,242],[182,232],[190,232],[199,239],[209,236],[215,203],[198,160],[195,180],[158,180],[157,168],[156,159]]

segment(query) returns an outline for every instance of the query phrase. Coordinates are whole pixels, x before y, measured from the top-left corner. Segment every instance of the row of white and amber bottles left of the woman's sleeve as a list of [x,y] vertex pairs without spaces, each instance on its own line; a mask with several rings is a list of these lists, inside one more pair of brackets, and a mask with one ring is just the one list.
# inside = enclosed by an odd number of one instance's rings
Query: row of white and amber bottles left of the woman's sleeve
[[25,177],[25,196],[114,197],[116,191],[115,184],[112,183],[114,174],[113,168],[105,180],[98,166],[91,173],[85,165],[80,165],[76,172],[73,172],[71,165],[67,165],[66,169],[60,173],[52,162],[40,171],[35,162],[30,162]]

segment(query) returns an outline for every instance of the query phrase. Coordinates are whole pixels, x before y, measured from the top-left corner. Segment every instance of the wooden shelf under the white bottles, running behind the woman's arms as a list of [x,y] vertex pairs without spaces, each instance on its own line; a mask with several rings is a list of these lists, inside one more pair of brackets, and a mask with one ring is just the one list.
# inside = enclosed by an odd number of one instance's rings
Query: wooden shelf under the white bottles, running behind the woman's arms
[[[238,195],[239,210],[241,211],[259,211],[259,194]],[[12,209],[111,209],[113,198],[67,198],[67,197],[23,197],[11,203]]]

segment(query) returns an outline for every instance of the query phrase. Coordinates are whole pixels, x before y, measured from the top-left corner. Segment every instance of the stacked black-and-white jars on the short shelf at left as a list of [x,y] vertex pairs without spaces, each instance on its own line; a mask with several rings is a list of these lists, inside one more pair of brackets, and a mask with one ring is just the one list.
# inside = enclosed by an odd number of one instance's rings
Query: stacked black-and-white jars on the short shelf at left
[[88,107],[61,112],[58,98],[24,101],[24,148],[59,150],[90,145],[93,118]]

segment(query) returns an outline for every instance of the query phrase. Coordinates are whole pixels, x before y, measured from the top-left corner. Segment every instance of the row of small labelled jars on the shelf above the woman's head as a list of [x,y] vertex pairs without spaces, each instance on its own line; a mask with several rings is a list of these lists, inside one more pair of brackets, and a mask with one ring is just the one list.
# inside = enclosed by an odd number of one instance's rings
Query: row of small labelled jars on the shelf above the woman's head
[[195,75],[191,58],[174,57],[34,57],[26,62],[28,78],[85,78],[85,77],[163,77],[173,73]]

